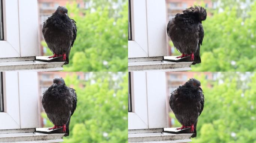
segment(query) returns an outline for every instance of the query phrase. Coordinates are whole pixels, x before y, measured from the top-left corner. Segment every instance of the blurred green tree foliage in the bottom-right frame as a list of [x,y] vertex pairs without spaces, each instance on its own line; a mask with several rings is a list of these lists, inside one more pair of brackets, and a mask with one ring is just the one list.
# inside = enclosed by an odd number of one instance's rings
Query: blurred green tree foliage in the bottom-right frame
[[201,81],[205,105],[192,142],[256,143],[256,74],[221,73],[216,81],[204,75],[196,78]]

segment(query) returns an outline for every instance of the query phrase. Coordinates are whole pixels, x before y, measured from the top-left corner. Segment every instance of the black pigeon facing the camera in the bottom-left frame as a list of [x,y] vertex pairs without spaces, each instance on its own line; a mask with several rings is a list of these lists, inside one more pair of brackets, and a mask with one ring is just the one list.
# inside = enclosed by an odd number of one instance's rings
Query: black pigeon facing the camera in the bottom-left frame
[[77,96],[73,88],[65,85],[62,78],[55,78],[53,84],[43,93],[43,108],[55,128],[63,127],[65,136],[69,135],[70,117],[76,110]]

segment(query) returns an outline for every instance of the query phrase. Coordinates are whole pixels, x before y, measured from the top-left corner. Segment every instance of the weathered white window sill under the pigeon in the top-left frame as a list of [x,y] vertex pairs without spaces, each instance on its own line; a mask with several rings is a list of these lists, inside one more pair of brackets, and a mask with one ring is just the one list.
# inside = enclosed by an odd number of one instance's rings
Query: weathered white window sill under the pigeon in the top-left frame
[[63,70],[63,64],[64,62],[36,61],[35,57],[0,58],[0,71],[58,71]]

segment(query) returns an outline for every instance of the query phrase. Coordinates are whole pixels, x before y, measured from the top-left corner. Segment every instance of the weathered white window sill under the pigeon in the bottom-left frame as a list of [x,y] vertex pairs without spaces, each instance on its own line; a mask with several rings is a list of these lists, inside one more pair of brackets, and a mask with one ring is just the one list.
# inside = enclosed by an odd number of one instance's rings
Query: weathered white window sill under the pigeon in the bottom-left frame
[[[33,131],[31,131],[33,130]],[[0,142],[12,142],[12,143],[58,143],[63,142],[63,133],[60,134],[44,134],[35,133],[35,129],[30,129],[30,132],[22,130],[12,130],[10,133],[0,134]],[[1,131],[1,130],[0,130]],[[7,131],[7,130],[6,130]],[[19,132],[19,133],[17,133]]]

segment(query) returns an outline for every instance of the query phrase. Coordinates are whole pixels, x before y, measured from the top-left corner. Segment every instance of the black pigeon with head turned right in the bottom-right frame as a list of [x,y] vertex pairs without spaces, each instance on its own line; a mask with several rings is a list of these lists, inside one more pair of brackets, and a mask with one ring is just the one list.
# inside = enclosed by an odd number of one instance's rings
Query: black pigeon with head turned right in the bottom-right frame
[[169,101],[175,117],[182,124],[177,130],[191,127],[192,137],[196,137],[196,124],[204,109],[204,94],[200,86],[198,80],[189,79],[171,93]]

